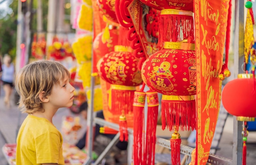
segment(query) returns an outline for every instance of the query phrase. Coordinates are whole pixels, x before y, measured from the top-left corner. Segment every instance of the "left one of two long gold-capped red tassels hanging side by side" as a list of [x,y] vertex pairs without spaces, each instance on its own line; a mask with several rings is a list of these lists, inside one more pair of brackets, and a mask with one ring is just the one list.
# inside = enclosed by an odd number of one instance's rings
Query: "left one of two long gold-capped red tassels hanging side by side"
[[146,93],[143,92],[145,84],[143,83],[140,91],[134,92],[133,99],[133,164],[142,165],[143,161],[143,140],[144,140],[144,105]]

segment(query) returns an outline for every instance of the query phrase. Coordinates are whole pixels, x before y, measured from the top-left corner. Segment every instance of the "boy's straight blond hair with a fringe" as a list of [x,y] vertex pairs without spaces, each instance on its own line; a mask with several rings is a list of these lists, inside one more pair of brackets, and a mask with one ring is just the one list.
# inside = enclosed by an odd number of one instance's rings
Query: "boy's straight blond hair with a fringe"
[[70,77],[68,70],[56,61],[40,60],[23,67],[16,76],[21,111],[28,114],[44,112],[39,94],[44,91],[43,98],[46,98],[51,94],[53,85],[60,84],[66,76]]

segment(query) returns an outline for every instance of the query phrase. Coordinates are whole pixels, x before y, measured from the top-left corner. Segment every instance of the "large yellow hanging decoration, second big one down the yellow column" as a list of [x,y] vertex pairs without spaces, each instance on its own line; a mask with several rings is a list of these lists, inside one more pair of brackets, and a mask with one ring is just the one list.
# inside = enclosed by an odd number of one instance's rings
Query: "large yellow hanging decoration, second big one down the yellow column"
[[[77,59],[77,62],[81,64],[85,61],[90,61],[92,58],[92,36],[84,36],[79,38],[73,43],[72,48]],[[90,73],[91,74],[91,73]]]

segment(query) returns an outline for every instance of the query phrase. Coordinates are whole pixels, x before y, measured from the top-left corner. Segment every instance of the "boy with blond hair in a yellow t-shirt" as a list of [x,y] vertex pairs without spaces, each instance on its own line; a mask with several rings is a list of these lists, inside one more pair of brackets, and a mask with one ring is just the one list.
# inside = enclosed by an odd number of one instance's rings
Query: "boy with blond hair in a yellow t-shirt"
[[52,117],[59,108],[73,104],[75,88],[69,78],[62,64],[46,60],[30,63],[17,74],[19,106],[28,113],[17,137],[17,165],[65,164],[62,135]]

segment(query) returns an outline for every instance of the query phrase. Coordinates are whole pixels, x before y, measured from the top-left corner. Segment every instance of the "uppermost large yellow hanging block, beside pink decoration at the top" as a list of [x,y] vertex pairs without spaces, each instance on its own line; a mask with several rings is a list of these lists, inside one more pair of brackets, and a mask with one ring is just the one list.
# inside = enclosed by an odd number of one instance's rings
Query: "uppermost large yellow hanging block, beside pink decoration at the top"
[[93,30],[93,9],[91,6],[82,5],[78,16],[78,27],[92,32]]

